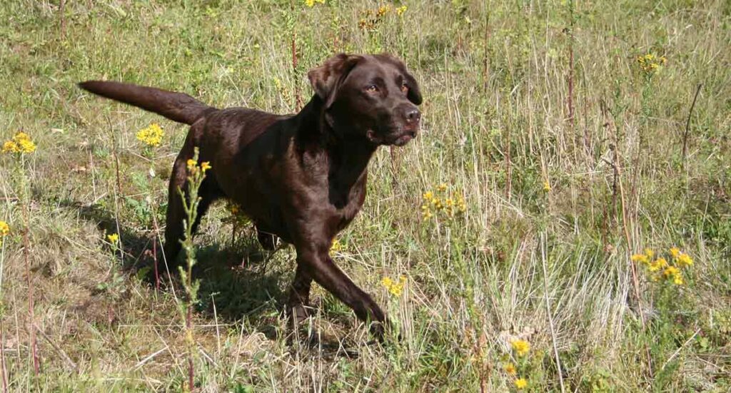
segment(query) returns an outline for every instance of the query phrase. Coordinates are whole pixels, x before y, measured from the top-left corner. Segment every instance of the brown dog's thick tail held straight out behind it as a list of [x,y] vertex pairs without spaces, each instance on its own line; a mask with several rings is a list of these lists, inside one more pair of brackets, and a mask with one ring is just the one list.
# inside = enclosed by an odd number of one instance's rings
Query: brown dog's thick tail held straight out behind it
[[130,83],[87,80],[79,83],[79,87],[102,97],[155,112],[178,123],[195,123],[206,113],[216,110],[188,94]]

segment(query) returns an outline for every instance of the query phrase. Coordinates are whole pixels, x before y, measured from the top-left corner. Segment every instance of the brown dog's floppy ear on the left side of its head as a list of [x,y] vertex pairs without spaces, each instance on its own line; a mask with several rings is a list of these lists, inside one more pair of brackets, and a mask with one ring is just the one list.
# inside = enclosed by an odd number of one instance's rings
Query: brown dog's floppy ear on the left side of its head
[[338,53],[336,56],[328,58],[322,66],[315,67],[307,72],[312,88],[314,88],[317,96],[325,102],[325,107],[330,107],[335,102],[338,88],[361,58],[357,55]]

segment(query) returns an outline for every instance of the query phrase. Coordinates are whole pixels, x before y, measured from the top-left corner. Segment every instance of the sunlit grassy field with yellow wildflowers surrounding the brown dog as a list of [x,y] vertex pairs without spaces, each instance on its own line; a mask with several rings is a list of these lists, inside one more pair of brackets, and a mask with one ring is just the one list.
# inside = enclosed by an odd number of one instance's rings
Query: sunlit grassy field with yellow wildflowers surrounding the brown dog
[[[731,389],[729,1],[65,3],[0,4],[0,142],[37,145],[0,155],[7,391],[178,391],[189,358],[201,392]],[[402,339],[317,286],[319,340],[290,337],[294,249],[225,204],[187,335],[151,270],[186,127],[75,83],[286,113],[341,51],[403,58],[425,98],[332,251]]]

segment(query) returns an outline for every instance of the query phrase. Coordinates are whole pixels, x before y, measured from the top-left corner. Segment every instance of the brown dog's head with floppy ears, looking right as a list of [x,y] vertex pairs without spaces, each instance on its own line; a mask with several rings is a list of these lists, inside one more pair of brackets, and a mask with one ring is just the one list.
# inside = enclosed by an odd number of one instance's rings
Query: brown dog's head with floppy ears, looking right
[[406,145],[419,131],[421,92],[404,63],[390,55],[346,55],[308,72],[334,129],[376,145]]

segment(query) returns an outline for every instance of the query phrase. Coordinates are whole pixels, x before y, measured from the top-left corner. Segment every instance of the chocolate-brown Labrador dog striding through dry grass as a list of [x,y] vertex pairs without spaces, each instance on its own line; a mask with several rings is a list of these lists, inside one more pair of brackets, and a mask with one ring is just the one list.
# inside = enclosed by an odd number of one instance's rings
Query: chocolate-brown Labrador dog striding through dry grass
[[186,161],[200,151],[209,161],[193,231],[216,199],[240,206],[265,248],[276,237],[295,246],[297,268],[287,313],[307,317],[311,282],[330,291],[383,340],[390,325],[379,305],[330,258],[333,238],[366,199],[368,161],[380,145],[403,146],[417,136],[419,85],[404,63],[388,54],[339,53],[311,69],[314,95],[295,115],[241,107],[217,109],[172,91],[86,81],[86,91],[155,112],[190,126],[175,159],[168,189],[164,253],[175,261],[183,238]]

